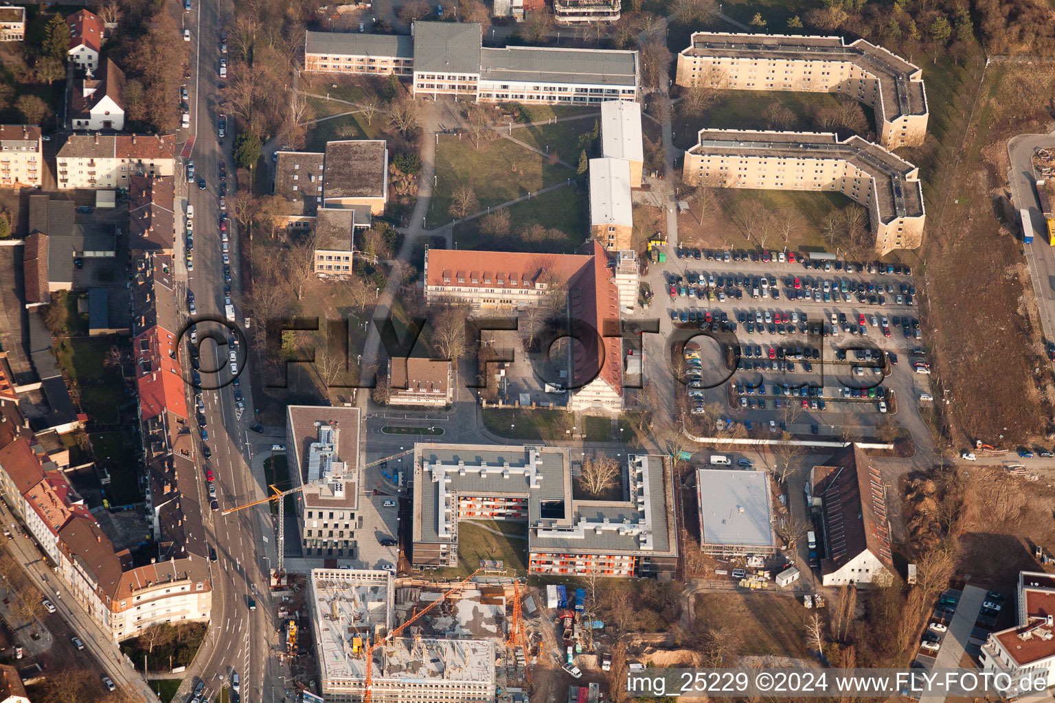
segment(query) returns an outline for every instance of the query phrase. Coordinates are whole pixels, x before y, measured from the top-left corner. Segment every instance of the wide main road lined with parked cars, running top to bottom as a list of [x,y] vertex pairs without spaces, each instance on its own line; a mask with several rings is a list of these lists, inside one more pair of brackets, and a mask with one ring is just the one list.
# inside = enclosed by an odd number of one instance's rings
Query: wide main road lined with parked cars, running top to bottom
[[[228,0],[203,0],[194,3],[190,16],[185,16],[195,41],[190,67],[192,78],[188,85],[191,93],[191,130],[196,137],[191,158],[195,164],[195,181],[204,177],[206,188],[199,190],[196,182],[188,183],[185,171],[181,171],[184,177],[177,177],[177,198],[194,206],[194,268],[186,271],[186,290],[194,293],[199,315],[219,317],[224,316],[226,285],[219,232],[222,160],[226,161],[227,171],[231,174],[227,181],[228,193],[235,190],[233,162],[229,155],[231,134],[234,133],[235,125],[230,118],[226,143],[220,143],[216,134],[217,119],[224,110],[220,101],[225,91],[220,84],[226,82],[219,78],[218,73],[219,35],[230,21],[232,11],[233,5]],[[185,202],[179,203],[176,212],[186,212]],[[241,311],[241,305],[237,305],[241,292],[238,237],[233,220],[229,226],[230,240],[227,243],[232,274],[231,295],[236,310]],[[183,238],[179,239],[183,243]],[[177,267],[184,271],[183,257],[177,258]],[[177,299],[177,307],[186,313],[183,291],[178,295],[180,299]],[[238,323],[242,323],[241,318]],[[204,332],[205,328],[204,324],[200,325],[199,332]],[[204,336],[199,334],[202,368],[223,369],[223,377],[203,373],[204,382],[215,384],[217,380],[229,379],[226,344],[217,346],[213,341],[204,340]],[[225,332],[220,338],[226,337]],[[239,358],[244,359],[244,355]],[[244,366],[241,360],[239,366]],[[251,409],[250,384],[239,385],[246,408]],[[257,470],[254,474],[249,464],[255,449],[247,431],[253,422],[252,412],[242,412],[235,407],[233,390],[231,387],[207,390],[202,396],[212,456],[208,461],[204,460],[199,446],[198,457],[200,469],[209,467],[216,475],[220,509],[263,496],[262,486],[265,485],[263,471]],[[193,407],[193,402],[191,396],[190,407]],[[197,680],[206,682],[207,690],[216,691],[230,680],[233,671],[237,671],[242,679],[241,688],[245,700],[267,703],[282,700],[281,686],[279,695],[273,686],[281,672],[269,656],[271,647],[277,644],[276,623],[273,622],[272,609],[269,607],[269,597],[260,595],[267,591],[268,560],[273,561],[275,558],[270,514],[266,508],[261,507],[223,516],[205,507],[209,506],[210,500],[206,494],[204,471],[199,470],[193,481],[197,483],[198,503],[205,512],[207,539],[215,547],[218,561],[211,564],[213,602],[209,636],[175,700],[185,700]],[[179,483],[183,487],[187,482],[180,479]],[[247,599],[251,594],[258,604],[255,611],[250,611],[247,607]]]

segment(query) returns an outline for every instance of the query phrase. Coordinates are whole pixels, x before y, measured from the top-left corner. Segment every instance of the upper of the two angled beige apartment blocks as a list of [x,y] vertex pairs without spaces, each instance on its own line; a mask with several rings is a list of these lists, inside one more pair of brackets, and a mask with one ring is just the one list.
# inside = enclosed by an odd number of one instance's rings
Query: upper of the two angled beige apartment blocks
[[677,55],[678,85],[701,80],[725,89],[848,95],[876,112],[887,149],[923,143],[923,72],[881,46],[842,37],[695,32]]

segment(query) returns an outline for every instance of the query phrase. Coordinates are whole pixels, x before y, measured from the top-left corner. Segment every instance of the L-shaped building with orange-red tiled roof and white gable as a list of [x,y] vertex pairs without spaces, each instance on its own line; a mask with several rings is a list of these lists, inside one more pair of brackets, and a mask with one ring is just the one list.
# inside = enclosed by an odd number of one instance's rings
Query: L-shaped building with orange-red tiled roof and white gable
[[571,302],[580,334],[571,354],[574,412],[622,409],[619,291],[600,242],[580,254],[525,254],[431,249],[425,252],[427,305],[465,304],[483,310]]

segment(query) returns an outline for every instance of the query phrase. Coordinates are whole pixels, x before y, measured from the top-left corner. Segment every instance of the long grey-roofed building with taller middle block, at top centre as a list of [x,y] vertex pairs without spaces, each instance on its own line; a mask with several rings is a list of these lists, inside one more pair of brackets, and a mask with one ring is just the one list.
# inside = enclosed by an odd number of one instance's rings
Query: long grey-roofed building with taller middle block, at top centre
[[484,48],[475,23],[415,22],[411,37],[308,33],[305,70],[413,76],[417,95],[596,104],[637,97],[636,52]]

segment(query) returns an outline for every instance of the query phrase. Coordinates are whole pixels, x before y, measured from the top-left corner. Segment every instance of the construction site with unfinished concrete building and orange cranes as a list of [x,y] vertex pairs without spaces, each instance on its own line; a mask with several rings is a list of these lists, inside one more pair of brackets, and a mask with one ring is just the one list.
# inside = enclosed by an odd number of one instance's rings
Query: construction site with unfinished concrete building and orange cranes
[[335,703],[513,701],[528,676],[518,597],[519,584],[472,577],[444,588],[397,584],[385,570],[313,569],[306,605],[320,692]]

